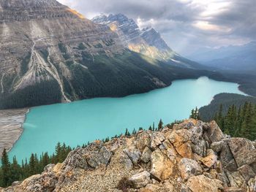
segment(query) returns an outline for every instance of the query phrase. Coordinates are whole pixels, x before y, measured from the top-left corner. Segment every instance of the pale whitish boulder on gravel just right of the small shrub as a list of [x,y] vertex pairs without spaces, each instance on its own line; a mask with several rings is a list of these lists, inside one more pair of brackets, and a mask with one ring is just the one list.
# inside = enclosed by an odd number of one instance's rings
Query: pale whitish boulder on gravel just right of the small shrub
[[143,188],[151,182],[150,173],[147,171],[140,172],[138,174],[132,175],[129,180],[135,184],[135,188]]

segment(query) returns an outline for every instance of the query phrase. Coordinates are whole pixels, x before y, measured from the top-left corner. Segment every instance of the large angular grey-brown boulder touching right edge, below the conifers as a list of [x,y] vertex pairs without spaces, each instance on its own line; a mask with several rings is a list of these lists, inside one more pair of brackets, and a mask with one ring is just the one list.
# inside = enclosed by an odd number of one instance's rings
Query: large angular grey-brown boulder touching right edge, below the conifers
[[231,138],[228,145],[238,167],[256,162],[256,148],[249,139]]

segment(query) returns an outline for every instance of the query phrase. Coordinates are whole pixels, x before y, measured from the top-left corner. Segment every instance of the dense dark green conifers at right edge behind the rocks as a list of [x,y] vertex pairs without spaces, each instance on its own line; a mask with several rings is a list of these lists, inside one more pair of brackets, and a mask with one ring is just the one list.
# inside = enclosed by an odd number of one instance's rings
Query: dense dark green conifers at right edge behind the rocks
[[228,108],[226,115],[223,114],[223,105],[221,104],[214,120],[217,121],[222,131],[225,134],[230,134],[231,137],[256,139],[256,104],[245,102],[238,108],[233,104]]

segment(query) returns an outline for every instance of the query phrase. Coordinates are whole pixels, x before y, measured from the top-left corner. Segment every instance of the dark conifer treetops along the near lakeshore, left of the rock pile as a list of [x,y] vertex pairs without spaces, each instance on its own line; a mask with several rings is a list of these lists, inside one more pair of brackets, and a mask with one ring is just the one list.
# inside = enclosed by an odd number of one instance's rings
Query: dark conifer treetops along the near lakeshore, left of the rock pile
[[[171,125],[168,124],[167,126],[170,127]],[[157,127],[155,127],[153,123],[153,126],[150,126],[148,130],[159,131],[163,127],[164,123],[162,122],[162,120],[160,120]],[[139,128],[139,131],[140,130],[143,130],[143,128]],[[133,129],[132,133],[130,133],[128,129],[126,129],[124,136],[131,137],[132,135],[137,134],[137,132],[138,131],[136,131],[136,129]],[[121,136],[123,136],[123,134],[115,135],[114,137],[112,137],[112,139]],[[102,139],[102,142],[109,141],[109,137]],[[90,142],[82,145],[81,147],[85,148],[88,145],[90,145]],[[21,165],[18,164],[17,158],[15,156],[12,158],[11,162],[8,157],[7,150],[4,149],[2,153],[0,167],[0,187],[6,188],[12,185],[12,183],[15,181],[21,181],[26,179],[27,177],[30,177],[33,174],[39,174],[44,171],[45,166],[47,166],[48,164],[62,163],[67,158],[69,152],[73,149],[74,148],[65,145],[65,143],[61,145],[61,143],[58,142],[55,147],[55,153],[53,153],[53,155],[48,155],[48,153],[42,153],[42,155],[38,156],[36,153],[32,153],[29,160],[22,160]]]

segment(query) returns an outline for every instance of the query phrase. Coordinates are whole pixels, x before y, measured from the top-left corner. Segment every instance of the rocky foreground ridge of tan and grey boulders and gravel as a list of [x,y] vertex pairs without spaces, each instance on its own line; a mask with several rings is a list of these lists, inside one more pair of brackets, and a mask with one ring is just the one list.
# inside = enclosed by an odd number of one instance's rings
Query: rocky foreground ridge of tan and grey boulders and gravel
[[256,142],[185,120],[73,150],[62,164],[0,191],[256,191]]

